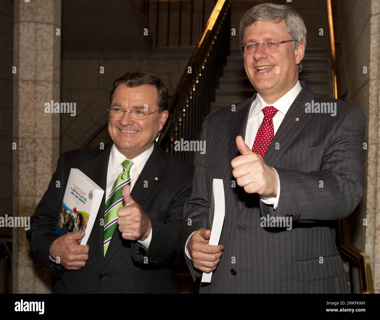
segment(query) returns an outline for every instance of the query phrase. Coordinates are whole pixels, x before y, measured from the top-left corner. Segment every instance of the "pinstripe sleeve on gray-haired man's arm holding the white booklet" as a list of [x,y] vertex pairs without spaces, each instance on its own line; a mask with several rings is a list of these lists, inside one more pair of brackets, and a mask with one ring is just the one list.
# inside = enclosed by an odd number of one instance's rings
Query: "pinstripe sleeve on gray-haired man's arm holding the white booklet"
[[[208,116],[204,119],[201,141],[206,141],[207,119]],[[206,184],[206,154],[207,152],[204,154],[201,154],[200,152],[197,153],[192,195],[184,207],[184,236],[182,250],[186,264],[190,269],[194,281],[196,280],[196,277],[202,275],[202,272],[194,268],[192,261],[187,257],[184,250],[190,234],[200,228],[208,228],[209,225],[210,200],[209,195],[207,194]]]

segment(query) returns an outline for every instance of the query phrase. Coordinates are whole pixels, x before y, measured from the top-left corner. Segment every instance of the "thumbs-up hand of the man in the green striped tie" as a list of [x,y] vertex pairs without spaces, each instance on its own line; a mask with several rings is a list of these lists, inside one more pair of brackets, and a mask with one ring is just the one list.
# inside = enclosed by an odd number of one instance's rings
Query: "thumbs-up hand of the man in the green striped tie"
[[152,224],[140,205],[132,199],[130,190],[128,184],[123,187],[124,206],[117,210],[117,224],[123,239],[144,241],[152,230]]

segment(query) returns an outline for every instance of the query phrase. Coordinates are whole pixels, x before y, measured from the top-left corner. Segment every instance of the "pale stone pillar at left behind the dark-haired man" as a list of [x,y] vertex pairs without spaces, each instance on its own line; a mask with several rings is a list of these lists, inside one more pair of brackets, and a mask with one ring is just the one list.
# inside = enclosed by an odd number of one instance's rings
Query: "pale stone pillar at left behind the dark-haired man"
[[[61,0],[14,0],[13,215],[31,216],[59,157]],[[51,291],[51,274],[30,255],[24,228],[13,228],[14,293]]]

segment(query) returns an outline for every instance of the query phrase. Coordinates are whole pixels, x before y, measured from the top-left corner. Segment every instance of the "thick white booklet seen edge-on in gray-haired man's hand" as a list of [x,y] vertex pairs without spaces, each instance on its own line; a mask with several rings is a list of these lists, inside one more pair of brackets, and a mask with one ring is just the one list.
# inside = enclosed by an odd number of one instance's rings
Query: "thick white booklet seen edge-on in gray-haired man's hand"
[[[209,211],[209,229],[211,236],[209,244],[219,244],[220,234],[222,233],[226,206],[224,200],[223,179],[213,179],[211,205]],[[201,282],[211,282],[212,272],[203,272]]]

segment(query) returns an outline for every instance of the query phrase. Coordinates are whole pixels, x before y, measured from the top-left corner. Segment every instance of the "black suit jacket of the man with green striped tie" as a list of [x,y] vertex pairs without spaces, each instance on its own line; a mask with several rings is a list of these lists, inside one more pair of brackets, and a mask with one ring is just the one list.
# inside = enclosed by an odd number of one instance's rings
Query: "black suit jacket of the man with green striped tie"
[[[133,187],[131,196],[152,222],[152,240],[146,250],[139,242],[125,240],[116,228],[103,257],[105,196],[87,244],[86,266],[72,271],[49,260],[63,194],[71,168],[78,168],[106,190],[112,142],[100,147],[63,153],[49,187],[31,218],[27,231],[32,251],[59,280],[54,293],[163,293],[177,291],[176,268],[183,263],[182,213],[192,189],[193,167],[154,144],[154,149]],[[158,179],[154,179],[157,177]],[[56,187],[60,181],[60,188]],[[148,187],[144,187],[144,181]],[[147,257],[144,258],[144,257]],[[147,262],[147,263],[146,263]]]

